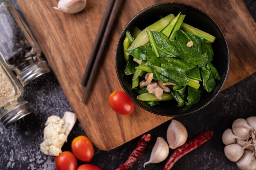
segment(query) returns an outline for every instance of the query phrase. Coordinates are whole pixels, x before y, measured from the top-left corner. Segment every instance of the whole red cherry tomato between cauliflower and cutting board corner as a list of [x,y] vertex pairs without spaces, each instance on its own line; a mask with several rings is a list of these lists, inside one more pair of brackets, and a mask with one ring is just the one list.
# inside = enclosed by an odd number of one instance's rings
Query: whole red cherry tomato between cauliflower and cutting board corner
[[85,136],[79,136],[73,139],[71,149],[77,159],[89,162],[93,156],[93,145],[90,139]]

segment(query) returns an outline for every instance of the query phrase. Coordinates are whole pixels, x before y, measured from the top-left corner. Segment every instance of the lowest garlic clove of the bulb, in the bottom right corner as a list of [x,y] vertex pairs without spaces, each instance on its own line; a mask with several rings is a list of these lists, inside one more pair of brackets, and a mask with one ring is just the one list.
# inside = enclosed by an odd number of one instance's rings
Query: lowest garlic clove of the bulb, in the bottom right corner
[[236,165],[241,170],[256,170],[256,159],[254,157],[254,153],[250,150],[245,150],[245,153],[236,162]]

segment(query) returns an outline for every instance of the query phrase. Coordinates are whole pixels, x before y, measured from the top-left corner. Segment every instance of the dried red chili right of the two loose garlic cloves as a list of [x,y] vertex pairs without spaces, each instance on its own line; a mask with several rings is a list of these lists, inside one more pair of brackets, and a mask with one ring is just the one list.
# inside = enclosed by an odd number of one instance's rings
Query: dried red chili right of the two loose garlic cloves
[[181,157],[189,153],[191,150],[198,148],[204,142],[211,139],[213,131],[202,132],[193,138],[186,141],[186,143],[179,148],[175,149],[173,154],[169,157],[168,161],[164,165],[164,170],[170,170],[174,163],[176,163]]

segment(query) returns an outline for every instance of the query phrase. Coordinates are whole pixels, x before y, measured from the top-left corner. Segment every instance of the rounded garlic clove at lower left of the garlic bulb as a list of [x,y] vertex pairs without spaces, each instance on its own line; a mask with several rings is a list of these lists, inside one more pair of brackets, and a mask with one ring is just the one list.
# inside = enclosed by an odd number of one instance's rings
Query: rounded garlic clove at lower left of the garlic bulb
[[233,162],[238,161],[238,159],[243,156],[244,152],[244,148],[239,144],[229,144],[224,148],[227,159]]

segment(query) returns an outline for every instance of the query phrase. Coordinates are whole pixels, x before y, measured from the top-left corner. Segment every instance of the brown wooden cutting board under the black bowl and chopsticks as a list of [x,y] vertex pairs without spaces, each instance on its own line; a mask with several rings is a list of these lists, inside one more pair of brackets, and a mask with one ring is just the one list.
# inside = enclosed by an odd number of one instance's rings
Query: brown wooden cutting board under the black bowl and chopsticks
[[[208,13],[225,33],[230,70],[225,88],[256,70],[256,24],[243,0],[176,0]],[[114,53],[125,24],[139,11],[164,0],[126,0],[109,38],[105,60],[88,105],[81,100],[81,79],[88,62],[107,0],[88,0],[85,10],[67,14],[54,10],[58,0],[17,0],[30,29],[69,100],[86,134],[95,146],[110,150],[171,119],[135,106],[128,116],[116,114],[108,104],[112,91],[122,89],[115,73]]]

